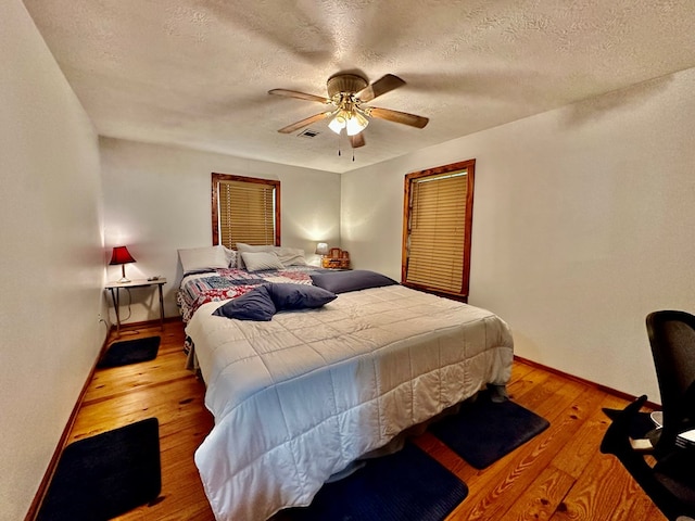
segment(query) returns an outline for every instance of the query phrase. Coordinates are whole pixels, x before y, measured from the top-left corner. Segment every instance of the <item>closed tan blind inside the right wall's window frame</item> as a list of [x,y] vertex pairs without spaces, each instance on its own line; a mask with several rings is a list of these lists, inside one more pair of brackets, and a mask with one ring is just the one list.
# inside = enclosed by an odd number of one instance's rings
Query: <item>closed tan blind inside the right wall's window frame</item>
[[405,282],[462,293],[467,170],[413,179]]

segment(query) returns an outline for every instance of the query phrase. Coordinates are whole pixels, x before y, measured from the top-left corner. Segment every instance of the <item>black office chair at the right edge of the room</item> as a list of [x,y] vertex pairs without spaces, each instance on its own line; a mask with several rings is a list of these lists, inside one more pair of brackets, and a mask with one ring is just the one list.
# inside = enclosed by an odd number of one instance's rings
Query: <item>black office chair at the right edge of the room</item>
[[[601,452],[618,457],[637,484],[669,520],[695,518],[695,445],[678,435],[695,428],[695,316],[684,312],[655,312],[646,318],[656,367],[664,425],[645,444],[631,428],[646,402],[641,396],[614,419]],[[639,447],[639,448],[636,448]],[[652,467],[645,453],[656,459]]]

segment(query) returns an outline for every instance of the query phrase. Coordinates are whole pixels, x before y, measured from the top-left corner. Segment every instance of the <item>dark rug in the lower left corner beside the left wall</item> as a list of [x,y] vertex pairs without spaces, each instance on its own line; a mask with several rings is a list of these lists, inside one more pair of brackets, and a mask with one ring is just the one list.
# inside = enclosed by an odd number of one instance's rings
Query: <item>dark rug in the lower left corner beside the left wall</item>
[[63,450],[37,521],[101,521],[162,490],[156,418],[103,432]]

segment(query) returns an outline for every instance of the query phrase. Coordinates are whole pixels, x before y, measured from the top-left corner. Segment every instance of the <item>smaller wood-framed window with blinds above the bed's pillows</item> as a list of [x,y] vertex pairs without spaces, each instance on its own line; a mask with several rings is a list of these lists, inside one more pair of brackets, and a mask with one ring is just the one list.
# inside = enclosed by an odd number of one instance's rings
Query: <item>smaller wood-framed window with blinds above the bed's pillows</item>
[[213,244],[280,245],[280,181],[213,174]]

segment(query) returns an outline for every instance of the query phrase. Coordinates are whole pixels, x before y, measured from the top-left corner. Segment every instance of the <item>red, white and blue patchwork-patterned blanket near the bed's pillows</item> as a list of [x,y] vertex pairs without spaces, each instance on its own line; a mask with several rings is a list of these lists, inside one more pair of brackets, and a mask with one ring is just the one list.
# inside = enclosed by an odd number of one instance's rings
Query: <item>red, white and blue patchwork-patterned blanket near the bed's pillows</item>
[[184,276],[176,302],[181,308],[184,322],[188,323],[203,304],[235,298],[266,282],[311,284],[313,272],[323,271],[315,266],[290,266],[285,269],[245,271],[237,268],[219,268],[213,271]]

